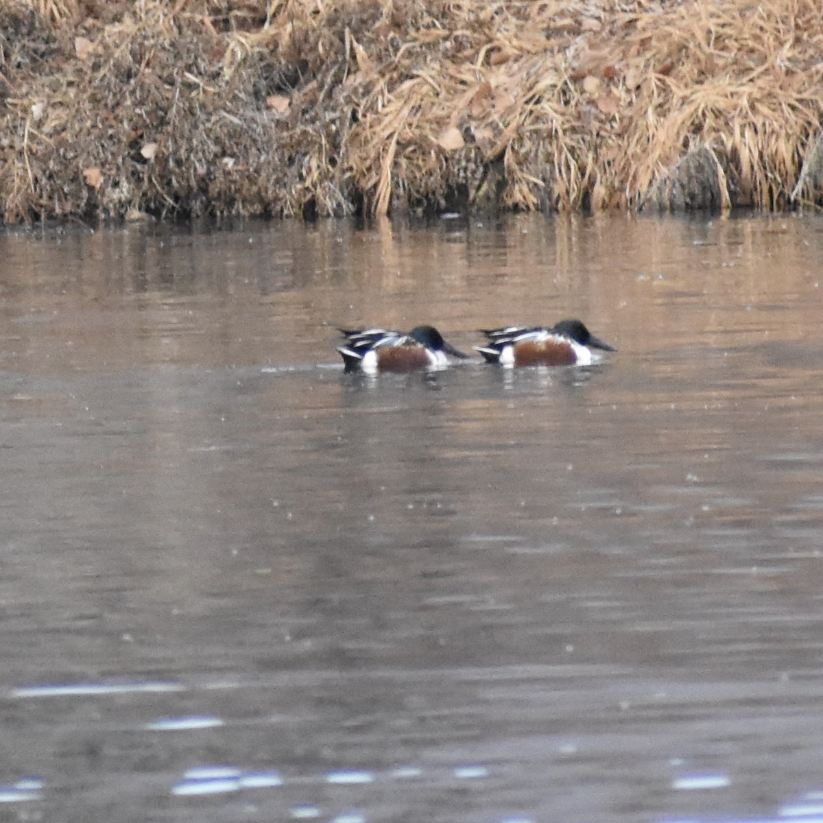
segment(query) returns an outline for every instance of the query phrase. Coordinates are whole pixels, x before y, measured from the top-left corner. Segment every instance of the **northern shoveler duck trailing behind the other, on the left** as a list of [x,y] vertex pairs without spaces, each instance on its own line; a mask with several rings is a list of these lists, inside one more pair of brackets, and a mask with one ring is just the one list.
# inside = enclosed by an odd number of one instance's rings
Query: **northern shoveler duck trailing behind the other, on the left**
[[411,332],[384,328],[346,329],[346,345],[338,346],[346,371],[414,371],[449,365],[447,355],[468,357],[445,342],[434,326],[416,326]]

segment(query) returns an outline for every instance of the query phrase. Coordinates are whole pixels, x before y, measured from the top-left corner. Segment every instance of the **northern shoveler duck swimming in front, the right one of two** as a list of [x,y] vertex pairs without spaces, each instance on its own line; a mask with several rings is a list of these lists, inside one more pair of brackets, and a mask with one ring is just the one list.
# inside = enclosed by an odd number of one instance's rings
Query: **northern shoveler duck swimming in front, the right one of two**
[[579,320],[561,320],[552,328],[506,326],[481,330],[486,346],[475,349],[489,363],[500,365],[590,365],[597,359],[593,348],[617,351],[594,337]]

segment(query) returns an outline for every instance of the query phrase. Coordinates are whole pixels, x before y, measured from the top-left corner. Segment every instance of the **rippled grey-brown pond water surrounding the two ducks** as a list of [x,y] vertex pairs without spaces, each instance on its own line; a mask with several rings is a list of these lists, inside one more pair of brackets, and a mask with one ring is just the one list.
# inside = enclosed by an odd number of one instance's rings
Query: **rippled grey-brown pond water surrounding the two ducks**
[[2,819],[823,820],[821,218],[0,249]]

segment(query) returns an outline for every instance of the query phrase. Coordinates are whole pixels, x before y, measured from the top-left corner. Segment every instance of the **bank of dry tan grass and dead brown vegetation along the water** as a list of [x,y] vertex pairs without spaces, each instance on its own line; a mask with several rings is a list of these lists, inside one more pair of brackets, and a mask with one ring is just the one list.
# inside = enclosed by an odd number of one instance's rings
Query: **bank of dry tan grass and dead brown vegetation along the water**
[[816,202],[821,53],[818,0],[5,0],[2,218]]

